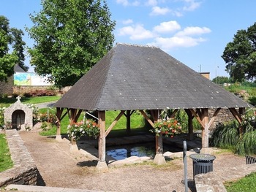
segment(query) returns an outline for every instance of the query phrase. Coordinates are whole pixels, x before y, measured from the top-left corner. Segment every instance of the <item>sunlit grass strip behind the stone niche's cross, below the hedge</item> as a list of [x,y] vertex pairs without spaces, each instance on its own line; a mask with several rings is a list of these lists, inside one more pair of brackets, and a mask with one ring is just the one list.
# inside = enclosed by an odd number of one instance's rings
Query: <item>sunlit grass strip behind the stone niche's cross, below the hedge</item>
[[[37,96],[37,97],[22,97],[20,99],[24,104],[39,104],[50,101],[57,101],[61,96]],[[1,98],[0,97],[0,107],[9,107],[10,104],[14,104],[17,101],[16,98]]]

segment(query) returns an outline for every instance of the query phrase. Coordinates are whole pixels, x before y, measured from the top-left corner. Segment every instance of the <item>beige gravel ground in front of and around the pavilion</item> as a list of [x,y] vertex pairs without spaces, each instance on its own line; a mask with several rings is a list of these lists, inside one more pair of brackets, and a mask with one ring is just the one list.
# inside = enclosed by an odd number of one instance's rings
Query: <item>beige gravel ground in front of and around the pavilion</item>
[[[182,158],[165,166],[133,164],[110,166],[109,172],[99,173],[97,161],[81,153],[69,153],[69,142],[56,142],[54,137],[42,137],[37,132],[20,131],[26,147],[34,158],[42,176],[40,185],[61,188],[81,188],[95,191],[184,191]],[[215,154],[214,154],[215,155]],[[192,180],[192,160],[187,159],[188,178]],[[217,155],[214,172],[228,174],[228,166],[244,164],[244,158]],[[189,183],[189,186],[192,182]]]

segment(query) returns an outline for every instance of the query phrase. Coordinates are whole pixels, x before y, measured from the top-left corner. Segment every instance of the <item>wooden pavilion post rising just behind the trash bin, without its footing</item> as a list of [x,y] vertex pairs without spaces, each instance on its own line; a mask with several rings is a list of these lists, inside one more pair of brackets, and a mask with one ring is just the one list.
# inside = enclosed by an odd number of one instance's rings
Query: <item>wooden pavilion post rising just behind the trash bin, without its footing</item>
[[201,120],[204,125],[202,128],[202,147],[209,147],[208,141],[208,109],[201,110]]

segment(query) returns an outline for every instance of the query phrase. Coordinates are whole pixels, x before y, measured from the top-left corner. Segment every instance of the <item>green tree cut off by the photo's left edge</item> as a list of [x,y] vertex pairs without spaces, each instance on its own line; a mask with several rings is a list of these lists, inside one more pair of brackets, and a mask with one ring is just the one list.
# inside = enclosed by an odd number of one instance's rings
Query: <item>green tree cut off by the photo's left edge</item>
[[11,42],[9,20],[0,15],[0,81],[7,81],[7,77],[14,73],[13,68],[18,62],[16,51],[9,53]]

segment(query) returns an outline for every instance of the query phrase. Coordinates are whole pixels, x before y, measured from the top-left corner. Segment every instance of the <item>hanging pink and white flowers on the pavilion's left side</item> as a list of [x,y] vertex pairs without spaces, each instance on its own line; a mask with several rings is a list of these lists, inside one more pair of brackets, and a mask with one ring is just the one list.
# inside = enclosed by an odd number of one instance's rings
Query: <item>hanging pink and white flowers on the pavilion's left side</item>
[[97,139],[99,137],[99,126],[94,120],[80,121],[67,126],[67,135],[69,139],[75,141],[84,135]]

